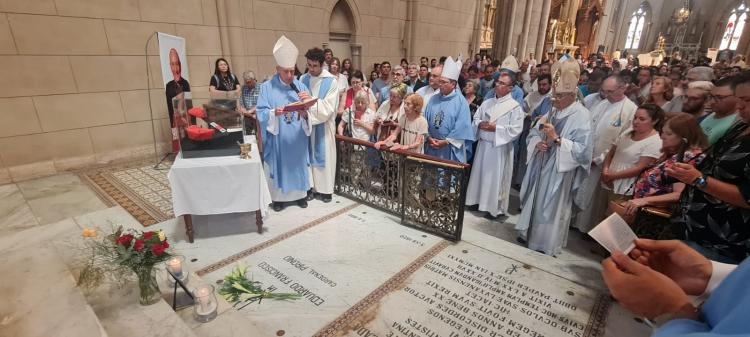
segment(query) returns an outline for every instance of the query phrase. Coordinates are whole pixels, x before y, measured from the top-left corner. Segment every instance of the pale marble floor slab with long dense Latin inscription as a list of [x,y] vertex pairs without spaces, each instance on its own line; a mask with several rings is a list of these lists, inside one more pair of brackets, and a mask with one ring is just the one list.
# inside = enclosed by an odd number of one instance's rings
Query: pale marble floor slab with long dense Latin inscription
[[595,291],[501,255],[449,247],[377,316],[353,324],[362,337],[591,337],[604,330],[608,300]]

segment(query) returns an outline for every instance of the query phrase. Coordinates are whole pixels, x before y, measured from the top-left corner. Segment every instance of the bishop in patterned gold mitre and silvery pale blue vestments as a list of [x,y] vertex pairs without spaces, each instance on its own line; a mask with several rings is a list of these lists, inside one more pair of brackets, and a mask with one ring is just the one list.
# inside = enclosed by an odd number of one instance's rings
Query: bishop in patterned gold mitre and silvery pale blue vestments
[[519,241],[548,255],[559,254],[567,242],[573,196],[591,166],[591,114],[576,101],[579,74],[569,56],[555,63],[554,108],[532,125],[527,139],[516,230]]

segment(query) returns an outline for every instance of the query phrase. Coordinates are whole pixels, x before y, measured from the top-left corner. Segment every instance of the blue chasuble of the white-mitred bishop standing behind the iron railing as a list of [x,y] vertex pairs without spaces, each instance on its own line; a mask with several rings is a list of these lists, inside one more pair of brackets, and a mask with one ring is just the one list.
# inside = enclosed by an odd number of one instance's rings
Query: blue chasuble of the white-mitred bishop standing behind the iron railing
[[430,137],[434,139],[453,139],[464,141],[461,148],[448,144],[440,149],[433,149],[425,144],[425,154],[460,163],[467,162],[467,149],[474,142],[474,128],[471,126],[469,102],[458,91],[448,96],[438,93],[432,96],[424,112],[427,119]]

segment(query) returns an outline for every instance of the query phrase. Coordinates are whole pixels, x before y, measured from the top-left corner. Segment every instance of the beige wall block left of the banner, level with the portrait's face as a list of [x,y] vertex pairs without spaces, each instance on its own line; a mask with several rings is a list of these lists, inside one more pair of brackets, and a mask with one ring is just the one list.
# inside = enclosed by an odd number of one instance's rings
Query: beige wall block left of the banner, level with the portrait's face
[[143,56],[71,56],[70,64],[81,92],[146,89],[148,85]]

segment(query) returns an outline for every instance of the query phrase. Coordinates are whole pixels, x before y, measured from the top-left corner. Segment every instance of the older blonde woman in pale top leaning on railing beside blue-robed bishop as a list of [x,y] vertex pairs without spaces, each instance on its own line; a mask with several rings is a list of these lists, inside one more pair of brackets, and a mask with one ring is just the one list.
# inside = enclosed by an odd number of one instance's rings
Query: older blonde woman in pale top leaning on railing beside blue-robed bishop
[[384,144],[395,143],[401,136],[401,140],[391,146],[391,150],[406,150],[409,152],[424,153],[424,140],[427,134],[427,119],[422,116],[424,100],[421,96],[411,94],[404,100],[404,114],[398,118],[396,128],[391,131],[388,138],[375,143],[380,149]]

